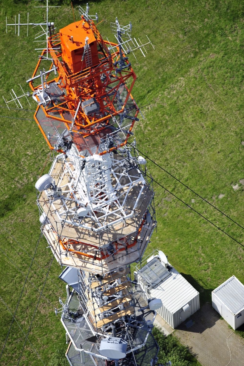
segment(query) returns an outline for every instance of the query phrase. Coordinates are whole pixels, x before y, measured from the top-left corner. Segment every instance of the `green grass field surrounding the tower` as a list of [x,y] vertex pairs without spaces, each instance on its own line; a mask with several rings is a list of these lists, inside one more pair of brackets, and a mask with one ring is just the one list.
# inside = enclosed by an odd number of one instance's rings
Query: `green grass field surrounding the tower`
[[[25,21],[27,11],[35,21],[45,17],[41,9],[33,9],[34,1],[1,0],[0,4],[0,95],[7,98],[11,88],[21,92],[18,84],[28,90],[26,80],[36,66],[38,53],[34,51],[35,29],[30,30],[28,38],[26,29],[21,29],[20,37],[15,36],[14,29],[6,34],[5,18],[12,21],[20,12]],[[133,96],[140,107],[146,106],[142,108],[145,119],[134,130],[138,149],[244,226],[244,186],[239,182],[244,178],[243,3],[102,0],[89,5],[90,14],[98,12],[100,20],[104,19],[98,26],[103,36],[113,39],[110,22],[118,16],[123,24],[132,20],[134,37],[143,41],[147,34],[155,46],[155,51],[148,49],[145,59],[139,52],[137,62],[130,56],[138,76]],[[75,15],[78,19],[76,6]],[[50,9],[49,16],[57,29],[73,21],[70,6]],[[36,105],[31,103],[29,107],[23,101],[24,108],[34,111]],[[12,320],[6,305],[14,313],[40,235],[34,183],[49,149],[33,112],[8,111],[3,99],[0,105],[2,348]],[[243,228],[154,164],[148,162],[148,168],[157,182],[244,244]],[[236,184],[239,188],[234,191]],[[200,292],[201,304],[211,301],[211,291],[232,275],[244,283],[243,246],[161,187],[154,187],[158,227],[146,254],[163,250],[170,263]],[[46,246],[41,239],[16,314],[24,332],[28,331],[52,258]],[[50,366],[58,365],[57,358],[61,360],[66,349],[64,329],[54,314],[58,297],[65,298],[65,288],[57,278],[60,272],[54,262],[29,337],[43,362]],[[239,330],[242,336],[243,330]],[[17,365],[23,343],[23,333],[14,322],[1,364]],[[41,365],[28,342],[20,365]]]

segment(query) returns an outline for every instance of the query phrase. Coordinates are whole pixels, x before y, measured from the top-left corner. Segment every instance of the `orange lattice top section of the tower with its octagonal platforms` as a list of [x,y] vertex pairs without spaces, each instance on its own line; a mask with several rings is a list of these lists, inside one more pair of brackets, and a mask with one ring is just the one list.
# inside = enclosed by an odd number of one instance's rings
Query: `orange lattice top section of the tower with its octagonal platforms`
[[[50,27],[50,70],[57,74],[50,81],[41,70],[45,52],[29,84],[39,102],[34,117],[50,148],[63,151],[58,135],[68,131],[81,155],[125,145],[139,109],[131,95],[136,75],[121,47],[104,41],[93,20],[81,16],[57,34]],[[34,86],[39,72],[42,84]]]

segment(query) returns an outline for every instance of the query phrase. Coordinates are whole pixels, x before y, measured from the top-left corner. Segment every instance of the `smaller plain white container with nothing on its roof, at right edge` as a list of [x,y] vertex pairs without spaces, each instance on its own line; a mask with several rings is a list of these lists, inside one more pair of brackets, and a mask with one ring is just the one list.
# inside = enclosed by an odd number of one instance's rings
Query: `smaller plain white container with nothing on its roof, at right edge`
[[244,323],[244,285],[232,276],[212,291],[212,307],[237,329]]

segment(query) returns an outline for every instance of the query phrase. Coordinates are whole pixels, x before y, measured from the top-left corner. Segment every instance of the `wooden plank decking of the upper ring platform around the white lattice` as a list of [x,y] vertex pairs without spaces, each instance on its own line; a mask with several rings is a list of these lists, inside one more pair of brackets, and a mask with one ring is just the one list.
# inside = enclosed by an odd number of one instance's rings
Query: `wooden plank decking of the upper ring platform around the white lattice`
[[[136,169],[134,169],[136,171]],[[55,179],[55,183],[57,184],[59,175],[62,172],[62,162],[57,161],[55,164],[54,170],[52,172],[52,176]],[[137,174],[139,174],[137,172]],[[70,177],[68,175],[65,175],[62,179],[61,185],[66,185],[69,182]],[[114,181],[115,182],[115,181]],[[66,186],[68,189],[68,186]],[[136,201],[136,198],[139,195],[139,192],[142,188],[142,183],[138,183],[137,185],[131,187],[131,189],[128,192],[128,196],[125,202],[125,207],[127,210],[132,210],[133,202]],[[63,188],[65,190],[65,187]],[[123,197],[127,193],[127,190],[119,191],[118,197]],[[89,218],[85,217],[83,219],[83,223],[88,225],[90,227],[90,230],[80,228],[74,225],[65,224],[62,227],[61,222],[59,221],[57,212],[62,208],[61,200],[56,199],[53,202],[53,206],[50,208],[50,203],[48,202],[47,197],[45,196],[45,193],[43,192],[39,197],[39,204],[41,208],[44,210],[44,212],[47,214],[48,219],[50,220],[50,223],[55,228],[55,231],[57,232],[57,235],[61,235],[63,238],[77,240],[78,242],[82,242],[85,244],[92,244],[97,247],[103,246],[105,244],[108,244],[110,242],[114,242],[115,240],[124,237],[124,236],[132,236],[135,235],[136,230],[139,228],[139,225],[142,221],[142,218],[146,212],[146,209],[149,205],[149,203],[152,201],[153,192],[149,190],[149,187],[145,185],[143,188],[141,197],[138,201],[138,204],[136,206],[136,212],[133,217],[126,220],[126,222],[122,221],[119,224],[113,225],[109,227],[109,230],[104,230],[103,232],[100,232],[99,235],[95,232],[91,231],[92,225],[94,225],[94,221]],[[118,198],[119,199],[119,198]],[[120,198],[121,199],[121,198]],[[75,206],[75,202],[71,204]],[[114,220],[117,220],[118,217],[116,214],[113,214],[114,207],[110,208],[110,216],[106,219],[106,221],[109,223],[112,223]],[[76,245],[75,250],[77,251],[84,251],[85,246],[83,245]]]

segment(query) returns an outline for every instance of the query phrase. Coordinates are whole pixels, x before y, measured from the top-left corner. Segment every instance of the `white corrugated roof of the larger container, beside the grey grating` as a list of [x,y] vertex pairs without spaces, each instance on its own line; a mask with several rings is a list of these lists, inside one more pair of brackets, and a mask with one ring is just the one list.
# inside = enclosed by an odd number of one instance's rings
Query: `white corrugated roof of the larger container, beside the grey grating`
[[150,290],[150,294],[152,297],[161,299],[163,305],[174,314],[199,292],[175,268],[172,268],[170,276]]

